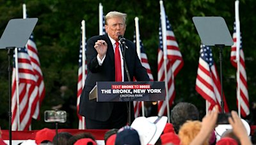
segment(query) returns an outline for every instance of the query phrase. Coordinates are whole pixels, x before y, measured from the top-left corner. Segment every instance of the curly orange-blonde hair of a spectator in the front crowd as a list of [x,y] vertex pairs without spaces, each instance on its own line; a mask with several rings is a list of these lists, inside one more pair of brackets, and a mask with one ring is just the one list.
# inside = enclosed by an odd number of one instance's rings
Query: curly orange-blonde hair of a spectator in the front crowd
[[[190,142],[195,139],[196,135],[200,132],[200,129],[202,127],[202,122],[195,120],[195,121],[187,121],[180,127],[179,130],[179,137],[180,137],[180,144],[182,145],[188,145]],[[206,141],[204,142],[204,145],[209,144],[210,136],[207,137]]]

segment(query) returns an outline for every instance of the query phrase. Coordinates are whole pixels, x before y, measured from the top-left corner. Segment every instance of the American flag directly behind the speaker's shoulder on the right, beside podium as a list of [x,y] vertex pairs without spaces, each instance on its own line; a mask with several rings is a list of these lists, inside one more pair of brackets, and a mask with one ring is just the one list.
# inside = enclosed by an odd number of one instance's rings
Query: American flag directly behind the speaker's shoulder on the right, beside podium
[[[134,40],[133,40],[133,42],[136,45],[136,31],[134,31]],[[148,73],[148,76],[150,78],[150,81],[154,81],[150,66],[148,64],[147,54],[145,53],[144,46],[143,46],[143,43],[141,42],[141,39],[140,39],[140,51],[141,51],[141,53],[140,53],[141,64],[142,64],[143,67],[145,67],[145,69],[147,69],[147,73]],[[142,106],[141,101],[133,101],[133,105],[134,105],[134,116],[135,116],[135,118],[137,118],[137,117],[140,116],[140,109],[141,109],[141,106]]]

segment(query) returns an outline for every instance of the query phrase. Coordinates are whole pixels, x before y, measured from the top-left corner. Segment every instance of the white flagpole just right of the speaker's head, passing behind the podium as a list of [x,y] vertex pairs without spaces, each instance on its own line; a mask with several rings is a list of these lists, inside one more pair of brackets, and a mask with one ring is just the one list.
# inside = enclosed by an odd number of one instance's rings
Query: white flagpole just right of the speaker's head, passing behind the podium
[[[136,47],[137,47],[138,57],[139,57],[140,62],[141,62],[139,18],[135,17],[134,20],[135,20],[135,31],[136,31]],[[145,116],[144,101],[141,101],[141,111],[142,111],[142,116]]]

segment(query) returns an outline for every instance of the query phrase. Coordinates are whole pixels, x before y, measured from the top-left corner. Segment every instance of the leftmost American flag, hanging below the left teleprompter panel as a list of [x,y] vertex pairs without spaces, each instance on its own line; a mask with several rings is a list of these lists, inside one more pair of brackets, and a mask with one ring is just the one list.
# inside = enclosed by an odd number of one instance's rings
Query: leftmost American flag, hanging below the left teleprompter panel
[[[39,85],[35,69],[32,67],[28,49],[17,48],[18,53],[13,55],[13,60],[18,57],[18,64],[13,61],[12,75],[12,130],[18,130],[18,115],[20,117],[20,130],[28,130],[36,105],[40,100]],[[17,112],[16,66],[19,68],[19,113]]]

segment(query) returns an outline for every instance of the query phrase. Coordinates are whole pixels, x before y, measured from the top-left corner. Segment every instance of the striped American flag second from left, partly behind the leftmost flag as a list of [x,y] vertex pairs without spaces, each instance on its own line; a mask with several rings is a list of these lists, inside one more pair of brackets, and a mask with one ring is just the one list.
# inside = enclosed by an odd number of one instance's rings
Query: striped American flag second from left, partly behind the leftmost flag
[[33,34],[31,34],[30,38],[28,39],[26,48],[28,50],[28,55],[31,60],[31,66],[33,67],[35,72],[36,82],[39,87],[39,100],[36,103],[36,110],[35,110],[35,113],[33,114],[33,118],[36,120],[40,120],[40,106],[42,104],[42,101],[45,95],[45,84],[44,84],[43,73],[41,70],[40,60],[38,57],[38,52],[37,52]]

